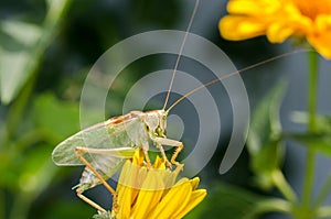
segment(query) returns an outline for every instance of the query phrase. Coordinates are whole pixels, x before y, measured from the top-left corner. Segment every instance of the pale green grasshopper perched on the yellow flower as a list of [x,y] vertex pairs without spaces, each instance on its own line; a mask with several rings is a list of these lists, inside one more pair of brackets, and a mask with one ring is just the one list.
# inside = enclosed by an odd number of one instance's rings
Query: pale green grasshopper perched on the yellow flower
[[[171,106],[168,110],[166,110],[166,107],[183,46],[197,10],[199,1],[200,0],[196,0],[195,2],[185,32],[186,34],[181,44],[163,109],[148,112],[131,111],[127,114],[97,123],[64,140],[52,153],[53,162],[56,165],[85,165],[76,193],[81,199],[100,212],[106,213],[107,211],[84,196],[83,193],[96,185],[103,184],[111,193],[113,197],[116,198],[115,189],[111,188],[106,180],[120,168],[126,158],[132,157],[137,147],[143,150],[145,158],[149,166],[151,165],[148,156],[149,142],[152,142],[159,149],[168,166],[179,165],[175,158],[182,151],[183,143],[167,139],[166,136],[167,116],[174,106]],[[170,161],[167,158],[162,145],[177,147]]]

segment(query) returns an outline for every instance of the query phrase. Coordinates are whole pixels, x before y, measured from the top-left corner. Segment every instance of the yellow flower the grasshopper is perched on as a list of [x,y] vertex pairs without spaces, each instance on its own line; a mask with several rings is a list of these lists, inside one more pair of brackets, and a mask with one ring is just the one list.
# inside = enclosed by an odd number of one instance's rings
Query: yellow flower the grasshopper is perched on
[[182,167],[170,171],[159,157],[152,167],[147,167],[141,150],[137,150],[120,173],[111,218],[182,218],[206,196],[205,189],[196,189],[197,177],[181,178],[175,183]]

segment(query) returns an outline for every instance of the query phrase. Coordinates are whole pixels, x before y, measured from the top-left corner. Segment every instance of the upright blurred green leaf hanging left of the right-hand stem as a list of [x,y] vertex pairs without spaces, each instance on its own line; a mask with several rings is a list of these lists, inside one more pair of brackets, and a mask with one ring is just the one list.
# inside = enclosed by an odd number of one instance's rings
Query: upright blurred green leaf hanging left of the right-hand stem
[[258,185],[266,189],[273,186],[270,174],[280,166],[284,155],[279,109],[285,90],[286,84],[279,81],[263,98],[253,113],[247,138],[250,168]]

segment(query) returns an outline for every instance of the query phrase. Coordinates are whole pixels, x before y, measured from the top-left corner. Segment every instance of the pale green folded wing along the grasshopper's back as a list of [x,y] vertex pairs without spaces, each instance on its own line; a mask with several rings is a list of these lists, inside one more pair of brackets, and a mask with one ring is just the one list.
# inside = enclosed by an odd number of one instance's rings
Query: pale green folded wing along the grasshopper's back
[[[145,125],[138,118],[115,124],[109,124],[110,120],[84,129],[61,142],[52,153],[53,162],[56,165],[82,165],[75,154],[77,146],[89,149],[135,147],[137,146],[135,139],[146,139]],[[94,155],[88,153],[84,154],[84,158],[88,162],[95,161]]]

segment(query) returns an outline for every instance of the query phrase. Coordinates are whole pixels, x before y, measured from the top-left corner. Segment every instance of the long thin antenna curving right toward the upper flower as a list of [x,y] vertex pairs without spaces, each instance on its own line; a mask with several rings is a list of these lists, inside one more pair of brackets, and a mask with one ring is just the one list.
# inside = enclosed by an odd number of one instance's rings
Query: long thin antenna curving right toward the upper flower
[[202,89],[202,88],[204,88],[204,87],[207,87],[207,86],[210,86],[210,85],[213,85],[213,84],[215,84],[215,83],[217,83],[217,81],[222,81],[222,80],[224,80],[224,79],[226,79],[226,78],[229,78],[229,77],[232,77],[232,76],[234,76],[234,75],[237,75],[237,74],[241,74],[241,73],[243,73],[243,72],[245,72],[245,70],[249,70],[249,69],[252,69],[252,68],[258,67],[258,66],[264,65],[264,64],[266,64],[266,63],[270,63],[270,62],[273,62],[273,61],[276,61],[276,59],[279,59],[279,58],[282,58],[282,57],[292,55],[292,54],[297,54],[297,53],[301,53],[301,52],[308,52],[308,51],[311,51],[311,50],[303,48],[303,50],[298,50],[298,51],[285,53],[285,54],[281,54],[281,55],[278,55],[278,56],[268,58],[268,59],[266,59],[266,61],[263,61],[263,62],[253,64],[253,65],[250,65],[250,66],[244,67],[244,68],[242,68],[242,69],[239,69],[239,70],[229,73],[229,74],[227,74],[227,75],[221,76],[221,77],[218,77],[218,78],[216,78],[216,79],[213,79],[213,80],[211,80],[211,81],[209,81],[209,83],[206,83],[206,84],[204,84],[204,85],[201,85],[201,86],[194,88],[193,90],[186,92],[184,96],[182,96],[181,98],[179,98],[175,102],[173,102],[173,103],[167,109],[167,113],[168,113],[174,106],[177,106],[179,102],[181,102],[183,99],[185,99],[185,98],[189,97],[190,95],[196,92],[197,90],[200,90],[200,89]]

